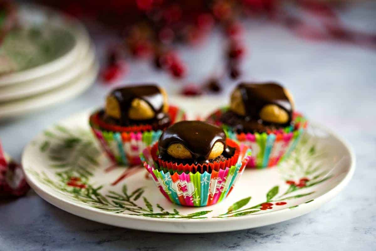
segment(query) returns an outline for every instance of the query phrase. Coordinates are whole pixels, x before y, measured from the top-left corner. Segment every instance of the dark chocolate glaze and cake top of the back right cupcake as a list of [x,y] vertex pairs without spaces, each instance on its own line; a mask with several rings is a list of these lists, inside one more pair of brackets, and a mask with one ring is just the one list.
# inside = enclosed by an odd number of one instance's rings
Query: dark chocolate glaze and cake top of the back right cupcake
[[[241,83],[240,90],[246,116],[240,116],[233,111],[227,111],[221,117],[221,122],[232,126],[238,132],[264,132],[267,129],[280,128],[291,124],[293,106],[279,84],[267,82],[262,84]],[[271,123],[261,119],[260,112],[265,105],[277,105],[285,110],[289,119],[284,124]]]

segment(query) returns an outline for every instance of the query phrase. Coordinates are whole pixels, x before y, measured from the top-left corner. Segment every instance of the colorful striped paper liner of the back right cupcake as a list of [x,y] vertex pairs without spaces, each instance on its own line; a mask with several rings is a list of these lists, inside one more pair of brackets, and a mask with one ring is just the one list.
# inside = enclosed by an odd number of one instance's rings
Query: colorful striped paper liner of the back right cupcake
[[221,115],[228,110],[223,107],[212,113],[207,122],[221,126],[227,137],[237,140],[252,149],[252,157],[247,167],[266,168],[279,164],[287,158],[296,147],[303,132],[307,127],[307,120],[299,113],[294,113],[294,126],[262,132],[262,133],[237,133],[232,127],[220,122]]

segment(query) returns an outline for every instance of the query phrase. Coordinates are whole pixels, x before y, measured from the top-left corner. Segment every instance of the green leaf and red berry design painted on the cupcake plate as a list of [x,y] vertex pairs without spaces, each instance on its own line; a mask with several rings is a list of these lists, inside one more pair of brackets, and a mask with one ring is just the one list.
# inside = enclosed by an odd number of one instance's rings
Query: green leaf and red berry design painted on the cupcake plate
[[[45,131],[44,135],[44,141],[39,142],[38,147],[48,156],[49,166],[55,177],[52,179],[46,173],[38,173],[32,169],[27,169],[27,172],[65,198],[68,197],[79,204],[102,211],[149,218],[205,219],[211,212],[211,210],[200,210],[182,214],[176,208],[166,210],[160,204],[150,203],[143,187],[129,190],[125,184],[121,190],[104,191],[103,185],[91,182],[93,170],[100,167],[98,162],[100,151],[96,148],[94,138],[89,131],[78,128],[72,132],[57,125]],[[305,161],[301,161],[302,159]],[[310,195],[314,191],[304,190],[331,178],[328,175],[329,170],[323,170],[324,161],[327,161],[324,151],[317,149],[315,142],[303,138],[296,151],[278,167],[282,179],[288,186],[271,187],[262,203],[249,205],[252,200],[249,196],[233,203],[223,214],[211,217],[240,217],[267,213],[271,211],[270,209],[273,211],[293,209],[299,205],[289,205],[291,203],[289,201],[294,202],[294,199],[303,197],[307,197],[305,203],[312,202]]]

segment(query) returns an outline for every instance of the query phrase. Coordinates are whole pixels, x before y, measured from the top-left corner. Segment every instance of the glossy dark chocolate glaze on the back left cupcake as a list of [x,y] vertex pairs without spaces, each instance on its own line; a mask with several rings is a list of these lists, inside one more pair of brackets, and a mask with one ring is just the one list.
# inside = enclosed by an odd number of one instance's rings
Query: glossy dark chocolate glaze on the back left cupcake
[[[117,88],[109,94],[114,96],[120,106],[120,119],[104,115],[103,119],[109,123],[115,123],[121,126],[156,124],[159,127],[170,125],[171,120],[168,114],[163,113],[164,97],[156,85],[135,85],[129,87]],[[132,120],[129,118],[129,108],[134,99],[142,99],[154,111],[155,117],[148,120]]]

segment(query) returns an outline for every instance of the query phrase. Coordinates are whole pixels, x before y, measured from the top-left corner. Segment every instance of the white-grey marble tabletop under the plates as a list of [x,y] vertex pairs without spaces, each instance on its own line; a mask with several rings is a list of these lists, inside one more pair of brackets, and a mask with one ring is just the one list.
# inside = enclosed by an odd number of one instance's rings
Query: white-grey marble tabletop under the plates
[[[365,4],[343,13],[343,17],[360,29],[375,30],[375,13],[375,4]],[[246,41],[252,49],[242,79],[284,83],[294,94],[299,110],[311,120],[336,128],[355,149],[355,175],[337,197],[309,214],[267,227],[184,235],[88,221],[50,205],[30,191],[23,198],[0,201],[0,250],[375,250],[376,51],[303,41],[271,24],[247,27]],[[101,54],[103,33],[92,35]],[[189,81],[197,81],[217,67],[218,53],[214,52],[221,48],[220,38],[213,36],[208,43],[184,51],[191,66]],[[150,80],[166,85],[173,82],[143,62],[133,65],[124,79]],[[75,111],[100,105],[109,88],[97,82],[64,105],[0,121],[5,150],[20,160],[23,147],[39,131]]]

